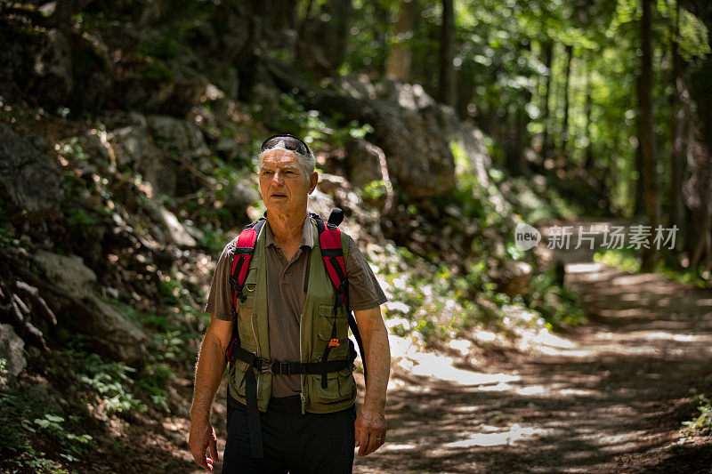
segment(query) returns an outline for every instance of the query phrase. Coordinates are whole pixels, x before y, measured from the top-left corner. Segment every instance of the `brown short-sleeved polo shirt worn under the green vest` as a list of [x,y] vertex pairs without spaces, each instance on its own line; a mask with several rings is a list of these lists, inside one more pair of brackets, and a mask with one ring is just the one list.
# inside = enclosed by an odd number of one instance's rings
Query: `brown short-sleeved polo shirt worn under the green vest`
[[[274,242],[270,224],[265,223],[265,264],[267,270],[267,314],[270,328],[270,356],[283,361],[298,361],[299,317],[304,309],[308,287],[309,261],[317,242],[316,231],[309,219],[304,220],[302,240],[294,257],[287,261]],[[207,296],[205,311],[217,319],[231,321],[234,305],[230,287],[230,272],[235,253],[235,240],[223,249],[215,267],[213,283]],[[351,309],[371,309],[386,301],[376,276],[359,247],[349,237],[346,259]],[[272,397],[288,397],[302,391],[300,375],[278,375],[272,379]]]

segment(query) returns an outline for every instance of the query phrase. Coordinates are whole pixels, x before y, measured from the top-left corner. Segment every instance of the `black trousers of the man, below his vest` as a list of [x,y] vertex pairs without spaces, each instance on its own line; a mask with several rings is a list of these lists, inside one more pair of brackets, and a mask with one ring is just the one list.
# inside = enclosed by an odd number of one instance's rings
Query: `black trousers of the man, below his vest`
[[223,474],[351,474],[356,406],[302,414],[299,396],[271,398],[260,412],[264,459],[250,452],[247,407],[228,393]]

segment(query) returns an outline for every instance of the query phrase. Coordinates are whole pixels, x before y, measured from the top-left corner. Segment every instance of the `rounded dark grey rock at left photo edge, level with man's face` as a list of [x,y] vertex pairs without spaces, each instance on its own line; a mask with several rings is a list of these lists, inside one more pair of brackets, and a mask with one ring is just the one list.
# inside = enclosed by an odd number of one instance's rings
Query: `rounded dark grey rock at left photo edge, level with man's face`
[[42,221],[64,196],[59,167],[28,140],[0,123],[0,184],[15,220]]

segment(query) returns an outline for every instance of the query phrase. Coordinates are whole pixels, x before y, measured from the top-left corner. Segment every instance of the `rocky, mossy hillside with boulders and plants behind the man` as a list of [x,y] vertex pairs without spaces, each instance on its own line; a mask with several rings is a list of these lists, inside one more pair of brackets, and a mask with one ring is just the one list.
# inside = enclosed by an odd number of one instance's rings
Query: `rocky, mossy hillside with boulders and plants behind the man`
[[438,345],[580,316],[554,269],[513,245],[518,221],[569,205],[545,176],[507,177],[492,140],[418,84],[317,83],[265,54],[246,98],[218,67],[240,38],[216,12],[178,54],[166,31],[180,18],[106,7],[0,10],[3,470],[128,462],[130,426],[185,420],[214,261],[263,211],[254,158],[271,133],[317,151],[312,211],[344,209],[393,337]]

